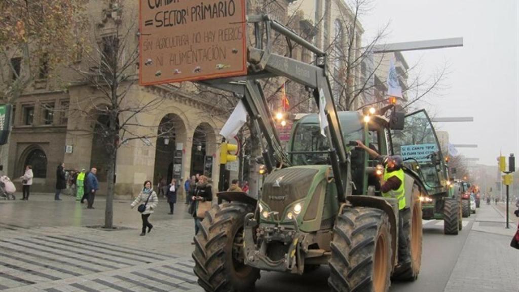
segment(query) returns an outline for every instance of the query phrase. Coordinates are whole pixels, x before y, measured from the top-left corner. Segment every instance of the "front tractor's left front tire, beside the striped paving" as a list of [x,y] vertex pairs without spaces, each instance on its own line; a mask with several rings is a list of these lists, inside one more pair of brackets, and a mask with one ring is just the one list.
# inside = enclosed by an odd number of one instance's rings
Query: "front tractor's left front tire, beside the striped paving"
[[246,266],[243,254],[245,215],[254,207],[231,202],[215,205],[206,212],[195,236],[194,272],[198,284],[208,292],[251,291],[260,271]]

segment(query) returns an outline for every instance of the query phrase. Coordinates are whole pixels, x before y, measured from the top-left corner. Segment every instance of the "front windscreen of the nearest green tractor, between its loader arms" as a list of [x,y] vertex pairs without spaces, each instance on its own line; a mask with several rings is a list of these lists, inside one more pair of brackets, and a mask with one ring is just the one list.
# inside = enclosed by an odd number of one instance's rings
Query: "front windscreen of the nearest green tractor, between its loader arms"
[[321,135],[319,124],[299,124],[289,154],[294,165],[330,164],[329,149],[328,140]]

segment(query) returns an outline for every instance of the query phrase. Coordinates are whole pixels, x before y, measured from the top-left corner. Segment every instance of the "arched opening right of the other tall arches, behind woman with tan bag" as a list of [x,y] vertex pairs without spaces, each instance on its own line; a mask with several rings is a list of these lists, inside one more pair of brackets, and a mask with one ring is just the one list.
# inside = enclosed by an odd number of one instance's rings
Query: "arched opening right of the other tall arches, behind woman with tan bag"
[[215,149],[216,137],[213,127],[208,123],[201,123],[193,134],[190,176],[196,174],[213,176]]

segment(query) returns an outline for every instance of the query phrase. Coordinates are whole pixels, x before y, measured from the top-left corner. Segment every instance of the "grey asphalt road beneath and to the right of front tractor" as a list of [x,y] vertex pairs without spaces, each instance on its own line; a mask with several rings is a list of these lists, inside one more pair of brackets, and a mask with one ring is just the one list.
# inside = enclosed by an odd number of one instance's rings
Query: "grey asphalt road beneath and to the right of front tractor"
[[[474,218],[474,217],[472,217]],[[415,282],[392,282],[390,291],[443,291],[467,240],[473,219],[463,219],[457,236],[443,234],[443,221],[424,221],[424,245],[420,276]],[[329,291],[329,269],[322,267],[302,276],[262,272],[257,292]]]

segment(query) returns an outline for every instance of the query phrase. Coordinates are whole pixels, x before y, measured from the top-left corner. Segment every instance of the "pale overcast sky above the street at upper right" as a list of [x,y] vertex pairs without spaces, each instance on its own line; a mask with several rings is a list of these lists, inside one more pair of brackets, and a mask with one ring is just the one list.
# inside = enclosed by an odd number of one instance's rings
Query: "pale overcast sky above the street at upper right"
[[[519,1],[517,0],[374,0],[363,17],[364,41],[390,23],[387,43],[463,37],[463,47],[404,52],[420,75],[448,64],[445,90],[421,103],[439,117],[473,116],[472,123],[439,123],[454,144],[479,163],[496,165],[496,157],[519,156]],[[518,162],[519,163],[519,160]],[[517,165],[516,163],[516,165]]]

